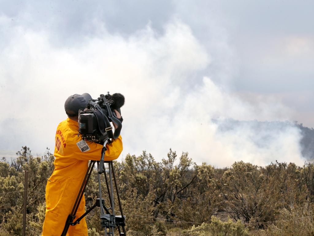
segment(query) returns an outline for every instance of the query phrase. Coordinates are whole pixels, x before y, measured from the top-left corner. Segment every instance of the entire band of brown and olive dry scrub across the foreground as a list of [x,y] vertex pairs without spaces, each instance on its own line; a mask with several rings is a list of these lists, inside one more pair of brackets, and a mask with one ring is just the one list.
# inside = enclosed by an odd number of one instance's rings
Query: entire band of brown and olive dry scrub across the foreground
[[[49,149],[33,156],[27,147],[0,162],[0,235],[21,235],[24,171],[29,171],[27,235],[40,235],[45,186],[53,171]],[[188,153],[127,155],[114,162],[128,235],[313,235],[314,165],[242,161],[217,169],[197,165]],[[97,174],[86,204],[97,198]],[[103,181],[105,183],[105,180]],[[103,186],[105,187],[105,186]],[[88,207],[88,206],[87,206]],[[89,235],[103,235],[98,210],[86,216]]]

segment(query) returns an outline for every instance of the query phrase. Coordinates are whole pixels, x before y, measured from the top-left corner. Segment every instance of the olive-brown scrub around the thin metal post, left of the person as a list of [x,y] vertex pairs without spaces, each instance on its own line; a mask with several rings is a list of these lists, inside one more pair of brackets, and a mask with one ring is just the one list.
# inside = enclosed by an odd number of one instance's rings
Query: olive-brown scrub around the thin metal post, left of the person
[[13,192],[0,195],[0,208],[3,208],[0,210],[0,228],[2,233],[22,231],[24,171],[27,170],[26,235],[40,235],[44,215],[42,217],[39,209],[45,202],[46,182],[53,170],[54,157],[49,149],[44,156],[34,157],[26,146],[17,155],[10,163],[5,159],[0,162],[0,193]]

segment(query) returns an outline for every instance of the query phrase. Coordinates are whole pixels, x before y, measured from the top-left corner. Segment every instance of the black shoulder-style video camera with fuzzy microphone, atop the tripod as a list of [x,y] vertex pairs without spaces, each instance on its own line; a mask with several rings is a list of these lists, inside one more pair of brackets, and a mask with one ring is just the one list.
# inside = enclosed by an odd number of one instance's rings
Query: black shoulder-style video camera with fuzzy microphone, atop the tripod
[[[121,93],[104,95],[90,99],[85,109],[78,111],[78,132],[85,141],[103,142],[108,138],[118,138],[122,128],[122,117],[118,119],[114,110],[121,114],[124,96]],[[118,127],[112,132],[110,122]]]

